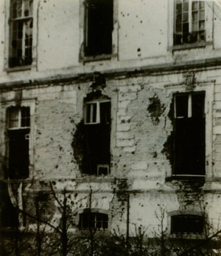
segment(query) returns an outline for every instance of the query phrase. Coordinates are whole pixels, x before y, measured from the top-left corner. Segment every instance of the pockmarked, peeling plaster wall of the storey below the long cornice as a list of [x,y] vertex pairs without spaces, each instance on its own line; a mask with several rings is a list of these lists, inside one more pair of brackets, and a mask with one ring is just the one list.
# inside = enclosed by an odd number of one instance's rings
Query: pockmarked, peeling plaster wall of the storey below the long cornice
[[[214,79],[214,77],[216,79]],[[34,118],[34,166],[30,178],[41,181],[55,181],[61,191],[69,189],[73,212],[87,207],[90,186],[93,190],[92,206],[110,212],[113,224],[124,231],[127,223],[127,190],[130,190],[130,232],[136,223],[152,225],[150,233],[157,225],[155,211],[158,205],[165,206],[166,220],[169,212],[188,210],[200,212],[197,194],[206,194],[200,199],[208,202],[208,215],[218,223],[220,210],[220,102],[221,77],[214,71],[195,74],[196,87],[200,84],[214,85],[209,106],[214,124],[211,134],[214,165],[209,163],[208,177],[211,179],[195,189],[184,186],[180,181],[165,182],[171,174],[172,166],[163,151],[164,144],[172,132],[169,118],[172,93],[185,87],[183,73],[168,75],[144,75],[134,78],[107,80],[102,89],[111,98],[111,175],[108,178],[91,178],[82,175],[74,159],[71,141],[76,125],[83,118],[83,99],[91,90],[93,81],[79,84],[66,83],[46,87],[26,87],[18,92],[1,93],[1,157],[5,153],[7,106],[19,101],[35,102]],[[167,86],[174,87],[169,91]],[[18,97],[19,96],[19,97]],[[209,111],[206,110],[209,114]],[[66,178],[66,179],[64,179]],[[114,178],[119,180],[114,181]],[[120,178],[124,178],[123,182]],[[78,179],[78,180],[77,180]],[[216,180],[217,179],[217,180]],[[27,195],[33,187],[27,187]],[[41,186],[36,187],[36,191]],[[35,190],[34,190],[35,191]],[[180,193],[178,193],[180,191]],[[74,196],[77,193],[77,198]],[[183,200],[183,198],[186,198]],[[54,201],[56,206],[56,202]],[[148,217],[148,218],[147,218]],[[55,212],[55,222],[59,215]],[[52,221],[53,221],[52,220]]]

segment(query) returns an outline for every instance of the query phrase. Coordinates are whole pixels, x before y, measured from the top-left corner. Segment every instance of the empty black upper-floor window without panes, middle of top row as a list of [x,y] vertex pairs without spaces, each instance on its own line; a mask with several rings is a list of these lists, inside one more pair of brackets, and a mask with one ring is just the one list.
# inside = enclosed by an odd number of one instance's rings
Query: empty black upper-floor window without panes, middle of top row
[[112,53],[113,0],[87,0],[85,56]]

